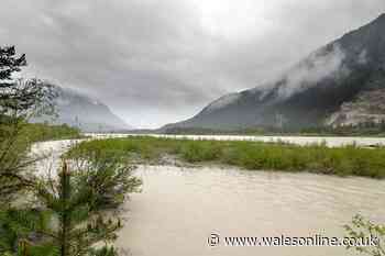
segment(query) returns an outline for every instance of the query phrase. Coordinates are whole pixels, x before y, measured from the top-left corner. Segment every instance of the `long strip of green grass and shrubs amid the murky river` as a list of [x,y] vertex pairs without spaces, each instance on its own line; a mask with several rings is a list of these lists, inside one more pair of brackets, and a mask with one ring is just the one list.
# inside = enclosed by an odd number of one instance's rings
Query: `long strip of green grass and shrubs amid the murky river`
[[309,171],[338,176],[385,177],[385,148],[354,145],[329,148],[326,145],[290,145],[262,142],[189,141],[132,136],[84,142],[78,151],[103,151],[160,160],[165,154],[188,163],[215,162],[249,170]]

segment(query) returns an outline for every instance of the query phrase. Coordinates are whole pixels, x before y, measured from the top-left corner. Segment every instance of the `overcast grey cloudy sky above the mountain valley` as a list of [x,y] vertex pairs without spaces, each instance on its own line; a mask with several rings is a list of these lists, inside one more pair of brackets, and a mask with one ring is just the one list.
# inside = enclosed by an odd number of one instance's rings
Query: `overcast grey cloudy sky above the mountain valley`
[[107,103],[136,127],[190,118],[385,12],[384,0],[1,0],[25,76]]

